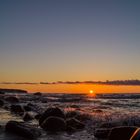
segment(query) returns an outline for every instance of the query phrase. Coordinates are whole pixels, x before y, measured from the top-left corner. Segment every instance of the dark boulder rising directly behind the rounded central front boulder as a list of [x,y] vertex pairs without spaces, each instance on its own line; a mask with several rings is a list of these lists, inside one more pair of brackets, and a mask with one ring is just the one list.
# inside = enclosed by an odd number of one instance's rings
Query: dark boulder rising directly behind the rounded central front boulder
[[64,112],[58,108],[58,107],[51,107],[48,108],[40,117],[39,119],[39,124],[41,125],[44,120],[46,120],[48,117],[54,116],[54,117],[60,117],[62,119],[65,119],[65,114]]

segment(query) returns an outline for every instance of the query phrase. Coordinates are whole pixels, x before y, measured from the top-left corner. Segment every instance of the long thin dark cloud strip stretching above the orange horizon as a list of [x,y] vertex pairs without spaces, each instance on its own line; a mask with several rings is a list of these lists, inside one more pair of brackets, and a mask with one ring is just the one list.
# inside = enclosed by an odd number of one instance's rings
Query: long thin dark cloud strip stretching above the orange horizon
[[57,82],[1,82],[0,84],[17,84],[17,85],[54,85],[54,84],[98,84],[98,85],[125,85],[125,86],[140,86],[140,80],[114,80],[114,81],[57,81]]

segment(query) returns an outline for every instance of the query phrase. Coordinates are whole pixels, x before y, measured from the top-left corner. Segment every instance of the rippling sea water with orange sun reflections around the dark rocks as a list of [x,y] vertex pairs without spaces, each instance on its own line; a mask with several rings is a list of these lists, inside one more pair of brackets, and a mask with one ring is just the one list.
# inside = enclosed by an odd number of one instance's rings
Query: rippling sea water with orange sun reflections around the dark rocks
[[[94,130],[103,122],[140,120],[140,95],[138,94],[110,94],[110,95],[72,95],[72,94],[45,94],[41,97],[33,95],[19,95],[20,104],[33,103],[38,111],[43,112],[49,106],[58,106],[65,112],[78,111],[90,118],[86,128],[82,131],[67,134],[46,134],[38,140],[95,140]],[[0,108],[0,125],[5,125],[9,120],[21,121],[22,118],[11,114],[10,111]],[[30,124],[37,124],[32,121]],[[23,138],[9,135],[0,130],[0,140],[23,140]]]

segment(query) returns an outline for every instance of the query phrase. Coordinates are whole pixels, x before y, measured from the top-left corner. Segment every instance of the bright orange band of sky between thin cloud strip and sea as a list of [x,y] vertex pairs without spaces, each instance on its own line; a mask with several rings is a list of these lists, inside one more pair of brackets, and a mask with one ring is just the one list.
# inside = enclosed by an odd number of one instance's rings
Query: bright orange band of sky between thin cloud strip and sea
[[[0,85],[0,88],[23,89],[28,92],[44,93],[140,93],[140,86],[113,86],[113,85],[92,85],[92,84],[35,84],[35,85]],[[94,89],[89,91],[89,89]],[[89,92],[87,92],[89,91]]]

